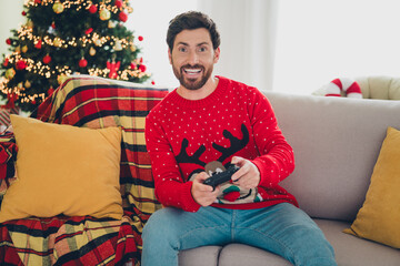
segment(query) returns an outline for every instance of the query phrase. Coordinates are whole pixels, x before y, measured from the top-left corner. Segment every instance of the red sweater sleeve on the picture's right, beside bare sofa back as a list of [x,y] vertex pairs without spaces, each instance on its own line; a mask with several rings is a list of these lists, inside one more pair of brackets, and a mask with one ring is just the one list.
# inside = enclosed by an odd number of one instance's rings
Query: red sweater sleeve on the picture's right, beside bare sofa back
[[284,139],[268,99],[257,89],[249,103],[254,141],[260,156],[252,163],[260,171],[262,186],[274,186],[294,170],[293,150]]

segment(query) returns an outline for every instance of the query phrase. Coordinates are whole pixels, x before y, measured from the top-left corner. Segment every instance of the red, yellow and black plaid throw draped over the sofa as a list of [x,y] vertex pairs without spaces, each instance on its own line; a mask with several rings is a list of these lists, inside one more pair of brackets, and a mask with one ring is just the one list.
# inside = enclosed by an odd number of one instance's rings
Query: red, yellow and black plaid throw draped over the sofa
[[[1,265],[140,265],[141,232],[160,207],[153,195],[144,119],[167,89],[89,75],[71,76],[31,116],[92,129],[122,127],[121,221],[93,217],[27,218],[0,224]],[[0,192],[13,180],[12,131],[0,136]],[[1,193],[0,193],[1,195]]]

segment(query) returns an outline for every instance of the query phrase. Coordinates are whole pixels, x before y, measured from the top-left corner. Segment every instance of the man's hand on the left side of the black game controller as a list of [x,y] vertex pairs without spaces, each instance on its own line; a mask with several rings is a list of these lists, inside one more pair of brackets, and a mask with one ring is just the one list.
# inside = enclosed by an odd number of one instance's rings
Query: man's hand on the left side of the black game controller
[[212,186],[204,185],[203,182],[210,177],[206,172],[201,172],[193,178],[193,185],[191,188],[194,201],[201,206],[206,207],[211,205],[216,200],[220,191],[219,186],[212,191]]

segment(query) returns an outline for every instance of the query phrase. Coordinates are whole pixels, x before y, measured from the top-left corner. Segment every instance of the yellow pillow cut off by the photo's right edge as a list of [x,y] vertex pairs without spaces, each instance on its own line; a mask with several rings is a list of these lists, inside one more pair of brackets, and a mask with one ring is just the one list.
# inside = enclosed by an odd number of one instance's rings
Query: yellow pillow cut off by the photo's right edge
[[400,248],[400,131],[388,129],[366,202],[344,233]]

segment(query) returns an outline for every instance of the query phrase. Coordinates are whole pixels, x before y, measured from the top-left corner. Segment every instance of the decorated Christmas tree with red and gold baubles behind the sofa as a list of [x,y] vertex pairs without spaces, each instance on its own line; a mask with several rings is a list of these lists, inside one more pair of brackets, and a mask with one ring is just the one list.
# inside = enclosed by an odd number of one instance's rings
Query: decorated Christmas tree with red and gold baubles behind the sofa
[[6,40],[0,96],[33,111],[68,75],[90,74],[142,83],[140,48],[124,22],[129,0],[24,0],[27,22]]

